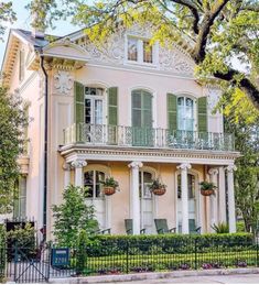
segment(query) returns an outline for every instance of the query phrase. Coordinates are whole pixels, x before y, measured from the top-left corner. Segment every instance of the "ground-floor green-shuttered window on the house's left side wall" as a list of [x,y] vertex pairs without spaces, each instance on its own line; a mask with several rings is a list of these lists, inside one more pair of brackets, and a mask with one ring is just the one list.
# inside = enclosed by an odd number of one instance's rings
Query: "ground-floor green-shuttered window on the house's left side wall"
[[25,218],[26,217],[26,177],[21,176],[17,184],[18,197],[14,199],[13,217]]

